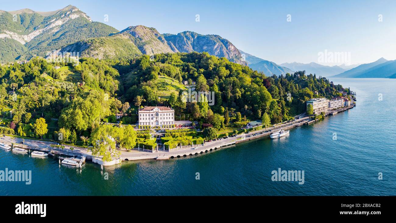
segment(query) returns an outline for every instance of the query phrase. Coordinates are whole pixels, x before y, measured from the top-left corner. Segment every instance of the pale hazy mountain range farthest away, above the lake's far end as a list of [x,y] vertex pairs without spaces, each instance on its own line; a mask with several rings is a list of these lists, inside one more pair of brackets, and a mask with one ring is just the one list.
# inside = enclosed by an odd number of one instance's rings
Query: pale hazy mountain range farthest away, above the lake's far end
[[316,74],[316,75],[320,75],[322,77],[329,77],[332,75],[336,75],[339,74],[341,72],[344,72],[345,70],[339,66],[324,66],[321,64],[317,64],[314,62],[311,62],[309,64],[302,64],[302,63],[297,63],[297,62],[293,62],[293,63],[283,63],[280,64],[280,66],[284,66],[287,68],[290,68],[292,70],[295,71],[307,71],[308,74],[312,73],[312,74]]

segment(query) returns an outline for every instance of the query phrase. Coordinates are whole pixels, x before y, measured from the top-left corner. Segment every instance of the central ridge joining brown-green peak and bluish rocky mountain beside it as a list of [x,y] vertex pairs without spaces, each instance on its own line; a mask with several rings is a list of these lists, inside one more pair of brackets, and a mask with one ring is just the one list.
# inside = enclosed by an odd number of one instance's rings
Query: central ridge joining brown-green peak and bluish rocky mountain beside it
[[[102,52],[106,49],[107,52]],[[125,59],[139,54],[168,52],[208,52],[225,57],[231,62],[247,65],[236,47],[217,35],[201,35],[185,31],[179,34],[160,34],[155,28],[129,26],[116,34],[78,41],[61,49],[61,52],[81,52],[81,56],[94,58]]]

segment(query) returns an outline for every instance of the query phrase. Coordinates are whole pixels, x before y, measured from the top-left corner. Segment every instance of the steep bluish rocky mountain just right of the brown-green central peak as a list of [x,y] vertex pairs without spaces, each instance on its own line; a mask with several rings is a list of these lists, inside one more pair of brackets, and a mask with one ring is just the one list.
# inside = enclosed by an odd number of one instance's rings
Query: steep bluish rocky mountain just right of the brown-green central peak
[[174,52],[208,52],[210,55],[225,57],[232,62],[247,65],[238,49],[221,36],[184,31],[176,35],[164,34],[164,37]]

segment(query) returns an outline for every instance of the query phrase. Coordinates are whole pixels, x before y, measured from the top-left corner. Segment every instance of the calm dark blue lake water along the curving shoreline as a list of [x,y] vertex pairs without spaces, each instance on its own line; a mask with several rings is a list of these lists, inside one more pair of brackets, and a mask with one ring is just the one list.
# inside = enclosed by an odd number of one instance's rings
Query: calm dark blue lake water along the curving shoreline
[[[396,79],[331,81],[356,91],[358,105],[278,140],[167,161],[123,162],[103,172],[92,163],[80,172],[51,157],[0,150],[0,170],[32,171],[32,184],[0,182],[0,195],[395,195]],[[304,170],[305,184],[272,182],[278,168]]]

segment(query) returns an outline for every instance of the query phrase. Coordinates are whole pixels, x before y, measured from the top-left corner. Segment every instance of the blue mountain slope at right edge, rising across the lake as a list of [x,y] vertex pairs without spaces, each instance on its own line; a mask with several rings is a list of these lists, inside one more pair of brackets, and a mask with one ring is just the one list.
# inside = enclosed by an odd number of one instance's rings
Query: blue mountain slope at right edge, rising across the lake
[[377,61],[362,64],[333,77],[345,78],[396,78],[396,60],[379,58]]

